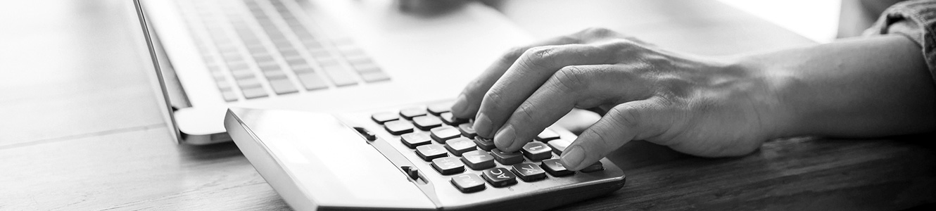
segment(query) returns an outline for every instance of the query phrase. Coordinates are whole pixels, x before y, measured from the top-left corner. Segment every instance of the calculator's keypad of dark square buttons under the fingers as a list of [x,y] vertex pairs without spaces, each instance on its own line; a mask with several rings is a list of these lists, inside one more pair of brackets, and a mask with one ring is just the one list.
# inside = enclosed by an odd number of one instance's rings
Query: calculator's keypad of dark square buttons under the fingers
[[[518,184],[518,179],[534,183],[576,174],[559,162],[559,155],[571,142],[550,129],[519,151],[504,152],[495,148],[492,140],[477,136],[473,122],[453,118],[448,105],[376,113],[371,120],[410,148],[410,152],[403,153],[415,153],[435,173],[448,176],[452,188],[461,192],[482,191],[488,186],[510,187]],[[580,172],[603,170],[602,163],[595,162]]]

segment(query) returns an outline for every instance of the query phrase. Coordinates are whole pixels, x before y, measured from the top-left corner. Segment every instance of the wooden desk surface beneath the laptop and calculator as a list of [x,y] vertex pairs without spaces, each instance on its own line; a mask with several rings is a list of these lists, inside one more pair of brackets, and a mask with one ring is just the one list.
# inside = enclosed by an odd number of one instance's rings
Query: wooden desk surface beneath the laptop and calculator
[[[0,210],[288,209],[233,144],[170,141],[128,3],[0,3]],[[809,44],[713,1],[498,5],[538,37],[605,26],[703,54]],[[934,157],[897,140],[778,140],[735,159],[635,142],[612,156],[622,190],[561,209],[899,209],[936,202]]]

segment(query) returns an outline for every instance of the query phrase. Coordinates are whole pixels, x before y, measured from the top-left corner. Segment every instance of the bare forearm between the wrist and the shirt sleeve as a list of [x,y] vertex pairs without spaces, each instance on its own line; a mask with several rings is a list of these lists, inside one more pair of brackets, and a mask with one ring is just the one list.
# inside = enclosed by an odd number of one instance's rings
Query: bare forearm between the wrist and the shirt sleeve
[[739,61],[776,81],[777,136],[873,137],[936,129],[936,88],[920,51],[891,35]]

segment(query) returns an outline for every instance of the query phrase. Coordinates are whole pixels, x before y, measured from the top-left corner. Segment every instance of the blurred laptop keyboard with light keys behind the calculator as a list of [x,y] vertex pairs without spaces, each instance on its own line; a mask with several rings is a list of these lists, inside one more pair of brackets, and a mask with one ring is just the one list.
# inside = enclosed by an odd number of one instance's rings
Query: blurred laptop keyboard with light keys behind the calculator
[[227,102],[390,79],[347,35],[294,0],[177,3]]

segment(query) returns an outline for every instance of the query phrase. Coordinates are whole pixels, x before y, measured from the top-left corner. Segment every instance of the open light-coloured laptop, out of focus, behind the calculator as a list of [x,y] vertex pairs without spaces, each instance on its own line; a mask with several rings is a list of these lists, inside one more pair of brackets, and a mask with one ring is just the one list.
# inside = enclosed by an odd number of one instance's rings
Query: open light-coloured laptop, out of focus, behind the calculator
[[139,1],[170,121],[191,145],[230,141],[228,107],[342,112],[453,98],[530,40],[476,2],[417,14],[391,0]]

